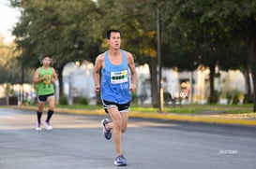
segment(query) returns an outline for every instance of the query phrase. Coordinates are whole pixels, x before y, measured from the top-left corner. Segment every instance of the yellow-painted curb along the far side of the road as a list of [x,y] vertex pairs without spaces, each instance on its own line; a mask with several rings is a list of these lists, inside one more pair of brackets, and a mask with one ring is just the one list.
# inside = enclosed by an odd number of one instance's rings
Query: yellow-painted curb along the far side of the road
[[[22,108],[29,110],[37,110],[33,106],[11,106],[12,108]],[[55,108],[55,112],[73,113],[84,115],[106,115],[103,109],[100,110],[85,110],[85,109],[71,109],[71,108]],[[224,114],[218,112],[205,112],[198,114],[177,114],[177,113],[145,113],[145,112],[129,112],[131,118],[148,118],[159,120],[180,120],[191,122],[207,122],[207,123],[221,123],[221,124],[238,124],[256,126],[256,113],[247,114]]]

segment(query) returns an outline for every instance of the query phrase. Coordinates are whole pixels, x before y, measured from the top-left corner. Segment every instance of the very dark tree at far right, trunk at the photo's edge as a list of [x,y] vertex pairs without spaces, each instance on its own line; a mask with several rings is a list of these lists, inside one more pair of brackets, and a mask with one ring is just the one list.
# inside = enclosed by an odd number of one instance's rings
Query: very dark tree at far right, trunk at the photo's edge
[[[191,1],[193,2],[193,1]],[[209,2],[209,1],[207,1]],[[209,4],[210,8],[204,10],[201,19],[215,23],[222,33],[229,35],[229,44],[242,42],[246,45],[248,53],[245,67],[249,67],[253,80],[253,111],[256,111],[256,2],[224,0]],[[202,6],[203,7],[203,6]],[[224,35],[224,34],[222,34]],[[239,43],[236,43],[239,44]],[[236,45],[239,47],[239,45]],[[235,47],[234,47],[235,48]]]

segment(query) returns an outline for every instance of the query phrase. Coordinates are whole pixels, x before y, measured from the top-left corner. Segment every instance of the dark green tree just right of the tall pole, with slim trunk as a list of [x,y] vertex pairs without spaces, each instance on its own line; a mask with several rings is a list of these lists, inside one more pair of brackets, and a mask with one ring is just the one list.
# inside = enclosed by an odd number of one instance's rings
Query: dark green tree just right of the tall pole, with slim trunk
[[[216,100],[214,88],[215,69],[219,58],[226,54],[223,51],[226,46],[225,40],[229,37],[220,29],[217,22],[203,19],[203,13],[212,8],[214,3],[214,1],[196,0],[168,1],[165,7],[171,7],[171,9],[166,9],[168,15],[164,18],[164,25],[166,25],[165,36],[169,37],[166,40],[175,42],[174,44],[171,43],[175,47],[176,44],[179,44],[179,49],[185,52],[182,54],[187,54],[185,56],[186,60],[190,61],[187,69],[194,69],[199,64],[203,65],[203,67],[209,67],[210,103],[215,103]],[[172,57],[177,58],[180,55]],[[178,61],[181,60],[178,59]],[[184,62],[184,60],[181,62]]]

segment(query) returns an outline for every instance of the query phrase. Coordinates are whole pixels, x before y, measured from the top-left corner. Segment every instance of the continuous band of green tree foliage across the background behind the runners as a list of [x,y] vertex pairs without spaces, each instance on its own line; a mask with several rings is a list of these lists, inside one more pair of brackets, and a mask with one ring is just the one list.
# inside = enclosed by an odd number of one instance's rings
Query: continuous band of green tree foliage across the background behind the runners
[[[177,70],[208,67],[212,99],[217,65],[222,70],[249,70],[256,91],[255,1],[9,1],[22,12],[13,34],[18,47],[23,49],[26,66],[38,66],[39,54],[50,53],[61,76],[64,65],[70,61],[93,62],[106,49],[105,32],[116,28],[122,31],[123,47],[133,53],[136,63],[149,63],[154,87],[158,80],[159,9],[164,67]],[[253,109],[256,110],[255,94]]]

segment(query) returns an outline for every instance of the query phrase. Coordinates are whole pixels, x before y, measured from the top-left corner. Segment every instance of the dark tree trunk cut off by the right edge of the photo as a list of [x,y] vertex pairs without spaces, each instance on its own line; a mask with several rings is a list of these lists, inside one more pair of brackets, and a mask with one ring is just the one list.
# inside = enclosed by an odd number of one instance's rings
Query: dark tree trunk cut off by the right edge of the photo
[[253,84],[253,112],[256,112],[256,42],[251,40],[248,44],[248,63]]

